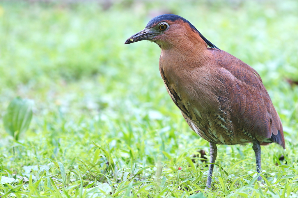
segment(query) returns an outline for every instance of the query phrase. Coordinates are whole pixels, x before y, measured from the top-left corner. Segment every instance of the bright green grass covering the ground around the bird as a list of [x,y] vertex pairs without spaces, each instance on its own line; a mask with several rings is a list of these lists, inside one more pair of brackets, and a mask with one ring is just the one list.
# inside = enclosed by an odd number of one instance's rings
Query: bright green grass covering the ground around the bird
[[[250,171],[251,144],[218,146],[222,169],[204,190],[208,167],[193,155],[209,156],[209,144],[168,96],[159,47],[124,45],[165,8],[263,78],[286,140],[285,151],[262,147],[265,181]],[[18,142],[0,122],[0,175],[16,179],[0,196],[298,197],[298,86],[285,80],[298,80],[297,9],[295,0],[116,1],[108,10],[1,1],[0,110],[16,96],[35,104]]]

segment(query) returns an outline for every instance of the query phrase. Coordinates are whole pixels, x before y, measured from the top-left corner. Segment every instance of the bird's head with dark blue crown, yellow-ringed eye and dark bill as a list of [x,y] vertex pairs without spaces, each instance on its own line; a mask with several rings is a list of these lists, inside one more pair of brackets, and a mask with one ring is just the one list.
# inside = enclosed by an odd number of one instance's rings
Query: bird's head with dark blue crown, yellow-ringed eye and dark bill
[[206,48],[218,49],[208,41],[201,33],[185,18],[174,14],[159,15],[151,19],[145,29],[129,37],[124,44],[148,40],[155,42],[162,49],[183,45],[190,40],[200,40]]

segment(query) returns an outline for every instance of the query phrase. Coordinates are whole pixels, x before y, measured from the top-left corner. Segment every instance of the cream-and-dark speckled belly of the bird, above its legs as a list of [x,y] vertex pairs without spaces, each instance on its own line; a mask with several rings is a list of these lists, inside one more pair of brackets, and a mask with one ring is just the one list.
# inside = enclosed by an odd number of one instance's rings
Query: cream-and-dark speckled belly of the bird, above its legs
[[[190,126],[197,134],[203,139],[214,142],[216,144],[243,144],[252,141],[252,135],[243,131],[243,129],[235,128],[231,121],[229,112],[231,112],[229,99],[224,96],[218,96],[220,108],[217,111],[207,112],[206,110],[200,111],[194,102],[187,100],[188,95],[186,92],[179,93],[177,87],[179,84],[170,83],[164,74],[162,67],[159,68],[167,92],[172,98],[173,102],[181,110],[181,113]],[[181,89],[186,90],[186,89]],[[183,97],[184,96],[184,97]],[[198,103],[200,103],[198,101]],[[201,105],[203,106],[203,105]],[[205,108],[208,109],[208,108]]]

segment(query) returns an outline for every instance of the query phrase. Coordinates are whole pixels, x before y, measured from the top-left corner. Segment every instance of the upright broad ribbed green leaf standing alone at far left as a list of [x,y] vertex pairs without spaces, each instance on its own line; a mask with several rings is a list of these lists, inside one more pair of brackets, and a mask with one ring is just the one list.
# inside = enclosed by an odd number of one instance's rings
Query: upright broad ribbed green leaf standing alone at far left
[[18,140],[19,135],[29,128],[32,119],[32,100],[16,97],[3,116],[6,132]]

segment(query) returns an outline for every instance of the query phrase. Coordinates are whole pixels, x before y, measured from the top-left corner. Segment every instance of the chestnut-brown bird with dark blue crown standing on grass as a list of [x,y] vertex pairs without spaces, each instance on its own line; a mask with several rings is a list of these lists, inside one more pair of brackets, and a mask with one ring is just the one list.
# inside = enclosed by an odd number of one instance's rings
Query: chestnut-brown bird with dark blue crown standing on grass
[[[216,145],[252,143],[257,173],[261,146],[285,149],[283,126],[260,75],[208,41],[185,18],[164,14],[125,41],[147,40],[161,48],[159,71],[190,128],[209,142],[206,189],[211,188]],[[262,179],[258,176],[257,181]]]

